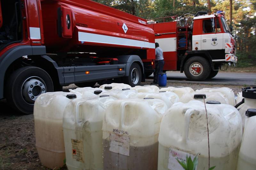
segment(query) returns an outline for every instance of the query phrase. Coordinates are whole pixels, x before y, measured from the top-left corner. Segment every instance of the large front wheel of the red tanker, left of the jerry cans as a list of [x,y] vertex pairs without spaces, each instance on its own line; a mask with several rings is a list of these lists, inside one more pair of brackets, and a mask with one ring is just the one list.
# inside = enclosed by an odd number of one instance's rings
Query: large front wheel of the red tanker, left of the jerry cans
[[6,99],[12,108],[32,114],[36,98],[53,91],[50,75],[39,67],[21,67],[6,82]]

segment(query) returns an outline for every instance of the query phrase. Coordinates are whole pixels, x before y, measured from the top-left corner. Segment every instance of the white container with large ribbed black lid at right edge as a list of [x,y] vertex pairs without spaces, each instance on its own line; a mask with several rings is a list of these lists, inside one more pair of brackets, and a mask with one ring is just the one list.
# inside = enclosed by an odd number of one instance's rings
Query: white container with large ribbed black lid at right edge
[[244,97],[244,103],[237,107],[242,117],[243,129],[245,122],[245,112],[247,109],[256,109],[256,87],[248,87],[242,89],[242,96]]

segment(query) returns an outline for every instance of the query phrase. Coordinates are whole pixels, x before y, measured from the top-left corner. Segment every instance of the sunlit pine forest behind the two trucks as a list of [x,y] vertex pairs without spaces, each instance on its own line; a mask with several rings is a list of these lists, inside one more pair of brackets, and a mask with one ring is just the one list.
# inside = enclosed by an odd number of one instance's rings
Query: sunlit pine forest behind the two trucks
[[[238,67],[256,64],[256,0],[94,0],[144,19],[181,16],[197,11],[225,11],[236,38]],[[232,6],[232,9],[231,9]],[[231,12],[230,12],[231,9]],[[230,20],[230,15],[232,20]]]

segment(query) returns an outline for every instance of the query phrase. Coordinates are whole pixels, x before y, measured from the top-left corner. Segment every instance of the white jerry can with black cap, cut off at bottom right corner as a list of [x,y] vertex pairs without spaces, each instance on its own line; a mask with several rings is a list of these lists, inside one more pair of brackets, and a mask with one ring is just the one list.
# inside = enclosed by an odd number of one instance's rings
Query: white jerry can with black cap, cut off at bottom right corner
[[256,109],[245,113],[244,136],[240,147],[237,170],[256,169]]

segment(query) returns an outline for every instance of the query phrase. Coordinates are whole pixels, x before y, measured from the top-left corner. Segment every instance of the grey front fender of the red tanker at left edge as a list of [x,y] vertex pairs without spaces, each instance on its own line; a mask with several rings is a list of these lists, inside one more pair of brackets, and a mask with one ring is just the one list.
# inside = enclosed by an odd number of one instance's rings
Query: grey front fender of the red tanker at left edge
[[0,99],[4,98],[4,76],[8,67],[22,56],[45,53],[45,46],[16,46],[0,56]]

